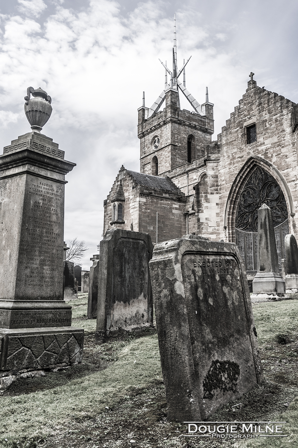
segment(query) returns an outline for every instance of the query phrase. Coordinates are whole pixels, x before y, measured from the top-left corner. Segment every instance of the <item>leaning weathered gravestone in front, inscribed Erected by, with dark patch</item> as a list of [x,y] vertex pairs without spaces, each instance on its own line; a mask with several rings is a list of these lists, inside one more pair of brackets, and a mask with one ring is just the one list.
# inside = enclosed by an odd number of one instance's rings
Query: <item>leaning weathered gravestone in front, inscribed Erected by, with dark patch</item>
[[206,419],[262,379],[243,260],[235,244],[180,238],[149,266],[168,419]]

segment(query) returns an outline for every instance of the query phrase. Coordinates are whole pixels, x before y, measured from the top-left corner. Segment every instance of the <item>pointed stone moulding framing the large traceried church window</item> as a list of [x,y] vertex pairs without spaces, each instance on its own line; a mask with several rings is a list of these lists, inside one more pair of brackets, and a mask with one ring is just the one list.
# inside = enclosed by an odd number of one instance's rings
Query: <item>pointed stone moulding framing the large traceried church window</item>
[[239,195],[241,194],[245,184],[247,183],[249,177],[256,167],[263,168],[265,171],[269,172],[271,176],[277,181],[278,185],[280,185],[282,193],[285,196],[285,201],[287,203],[288,210],[290,212],[290,216],[294,218],[295,216],[295,208],[294,202],[292,198],[292,194],[287,184],[285,178],[281,174],[281,172],[268,160],[265,160],[263,157],[255,156],[250,157],[243,167],[239,170],[235,180],[231,186],[230,192],[228,194],[226,209],[224,214],[224,230],[227,230],[228,238],[230,242],[235,242],[235,215],[237,211],[237,205],[239,201]]

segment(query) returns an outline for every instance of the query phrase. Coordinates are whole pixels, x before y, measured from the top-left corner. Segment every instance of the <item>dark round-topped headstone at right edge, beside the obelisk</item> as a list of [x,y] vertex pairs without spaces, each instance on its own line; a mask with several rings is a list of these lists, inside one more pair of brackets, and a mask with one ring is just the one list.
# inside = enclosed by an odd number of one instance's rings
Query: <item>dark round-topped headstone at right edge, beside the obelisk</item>
[[298,291],[298,247],[294,235],[285,235],[285,292]]

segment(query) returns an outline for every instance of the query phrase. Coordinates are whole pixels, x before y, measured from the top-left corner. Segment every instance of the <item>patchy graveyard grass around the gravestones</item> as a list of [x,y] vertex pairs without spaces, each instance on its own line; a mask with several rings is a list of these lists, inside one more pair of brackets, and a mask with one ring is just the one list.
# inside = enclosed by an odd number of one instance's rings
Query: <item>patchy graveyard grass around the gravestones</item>
[[[87,294],[73,305],[85,329],[83,363],[19,379],[1,392],[0,446],[5,448],[172,447],[186,428],[168,422],[155,330],[95,344]],[[253,305],[264,383],[213,415],[212,421],[286,421],[285,438],[191,439],[193,447],[298,446],[298,294]]]

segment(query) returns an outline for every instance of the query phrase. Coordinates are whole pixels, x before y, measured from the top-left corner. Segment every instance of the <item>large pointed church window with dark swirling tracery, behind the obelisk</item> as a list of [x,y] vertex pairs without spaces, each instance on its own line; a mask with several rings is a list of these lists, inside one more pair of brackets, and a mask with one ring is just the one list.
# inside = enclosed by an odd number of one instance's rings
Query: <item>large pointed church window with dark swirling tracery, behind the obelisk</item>
[[236,244],[247,271],[257,269],[258,210],[263,204],[272,211],[278,264],[281,267],[281,258],[285,258],[285,235],[289,233],[288,207],[274,177],[257,167],[239,194],[235,216]]

